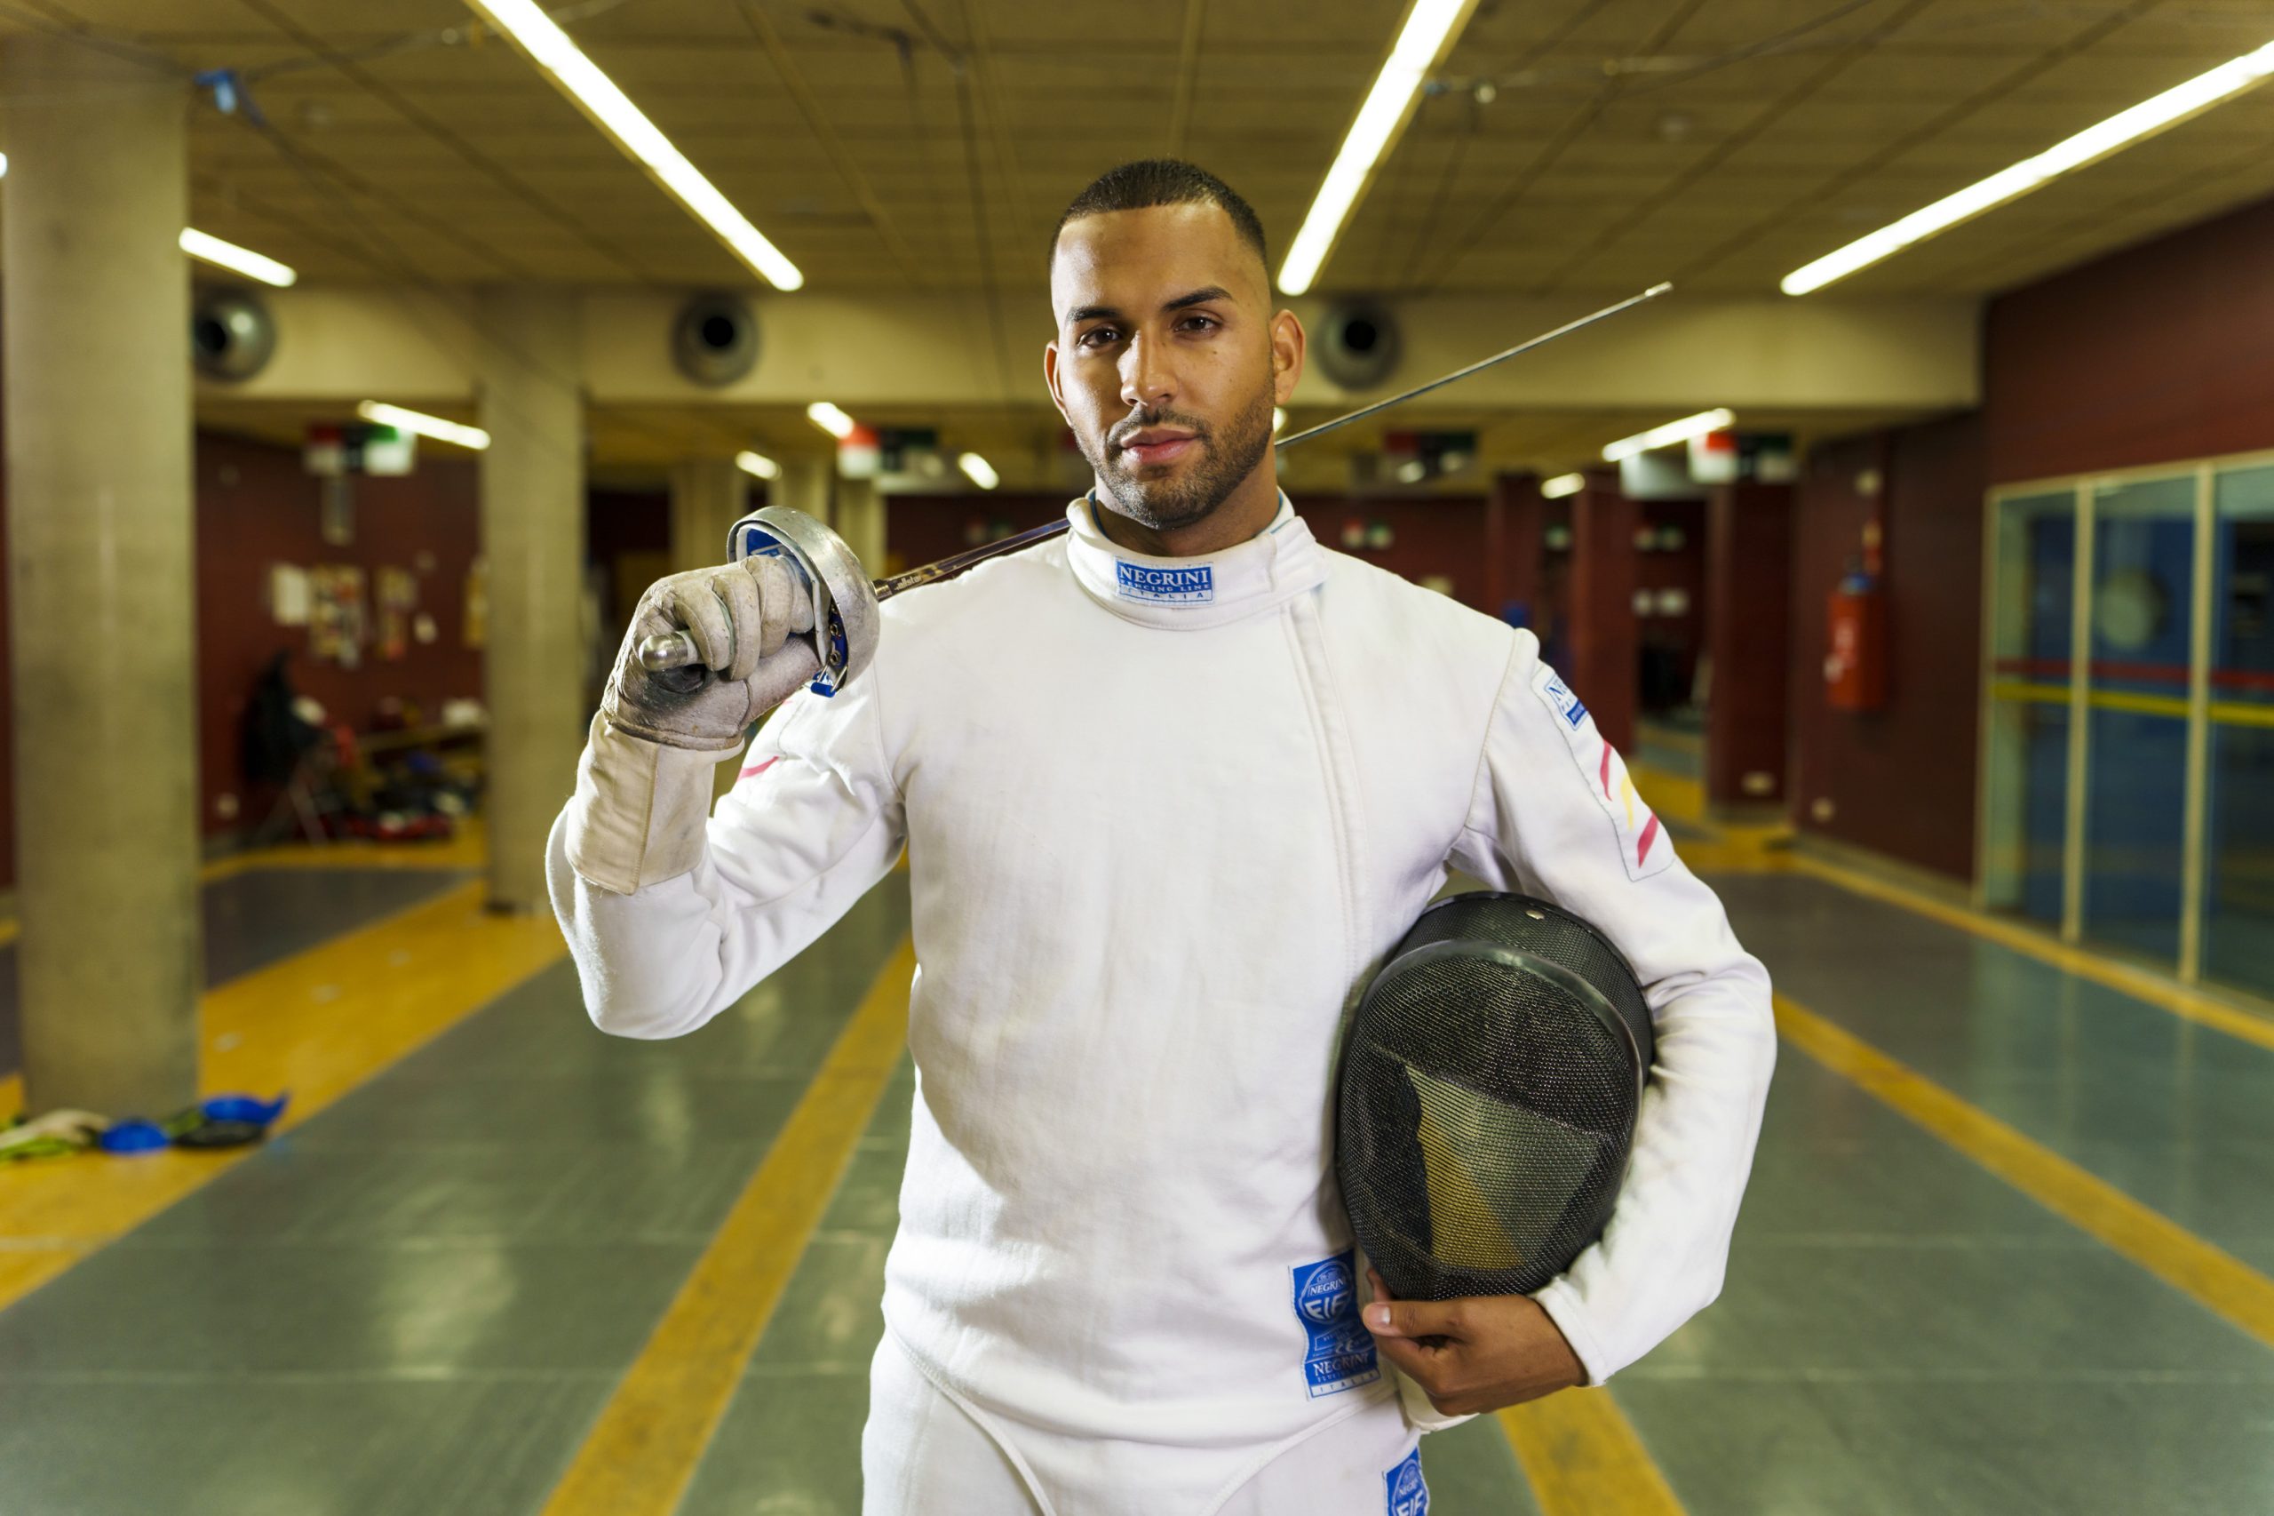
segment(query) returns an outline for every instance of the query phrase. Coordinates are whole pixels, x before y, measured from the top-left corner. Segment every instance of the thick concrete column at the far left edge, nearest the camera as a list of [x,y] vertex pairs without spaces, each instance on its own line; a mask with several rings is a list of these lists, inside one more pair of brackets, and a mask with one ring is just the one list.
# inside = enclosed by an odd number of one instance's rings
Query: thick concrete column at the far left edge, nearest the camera
[[0,48],[16,974],[25,1099],[198,1093],[189,89]]

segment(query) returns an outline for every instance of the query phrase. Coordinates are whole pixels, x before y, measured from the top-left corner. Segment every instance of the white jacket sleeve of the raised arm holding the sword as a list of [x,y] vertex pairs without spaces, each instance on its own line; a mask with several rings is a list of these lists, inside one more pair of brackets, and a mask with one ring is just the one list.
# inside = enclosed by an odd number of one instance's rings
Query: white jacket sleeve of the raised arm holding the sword
[[553,913],[600,1031],[694,1031],[891,872],[905,819],[873,685],[871,667],[835,699],[782,703],[709,815],[691,872],[630,895],[605,890],[571,867],[578,801],[562,810],[546,849]]

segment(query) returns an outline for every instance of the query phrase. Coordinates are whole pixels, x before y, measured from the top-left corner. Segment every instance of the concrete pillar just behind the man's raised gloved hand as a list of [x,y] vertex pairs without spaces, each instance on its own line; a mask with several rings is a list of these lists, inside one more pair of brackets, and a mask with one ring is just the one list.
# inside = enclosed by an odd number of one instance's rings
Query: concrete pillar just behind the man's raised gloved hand
[[591,715],[578,300],[555,289],[493,289],[480,296],[475,326],[489,430],[489,904],[543,911],[546,831],[575,788]]

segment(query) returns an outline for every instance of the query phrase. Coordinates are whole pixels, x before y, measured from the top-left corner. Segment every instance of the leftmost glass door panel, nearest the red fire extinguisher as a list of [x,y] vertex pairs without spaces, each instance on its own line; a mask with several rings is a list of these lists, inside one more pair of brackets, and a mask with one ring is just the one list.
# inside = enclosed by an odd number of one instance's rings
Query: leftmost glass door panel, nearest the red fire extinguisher
[[2069,804],[2076,492],[2001,501],[1990,603],[1990,742],[1983,890],[1992,906],[2060,924]]

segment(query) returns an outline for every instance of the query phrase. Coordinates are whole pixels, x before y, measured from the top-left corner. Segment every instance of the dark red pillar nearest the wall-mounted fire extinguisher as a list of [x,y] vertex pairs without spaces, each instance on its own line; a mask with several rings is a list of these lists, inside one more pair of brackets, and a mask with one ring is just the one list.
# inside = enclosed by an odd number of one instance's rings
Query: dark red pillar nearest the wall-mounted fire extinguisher
[[1706,505],[1706,799],[1785,797],[1792,485],[1721,485]]

